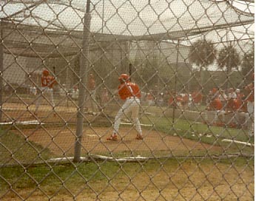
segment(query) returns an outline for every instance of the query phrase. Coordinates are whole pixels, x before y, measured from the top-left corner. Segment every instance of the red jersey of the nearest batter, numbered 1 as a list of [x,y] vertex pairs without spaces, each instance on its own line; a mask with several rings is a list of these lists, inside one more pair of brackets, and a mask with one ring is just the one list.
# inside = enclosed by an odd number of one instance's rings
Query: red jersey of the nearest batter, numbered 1
[[132,82],[126,82],[118,86],[118,94],[122,100],[126,100],[129,97],[141,98],[141,92],[137,84]]

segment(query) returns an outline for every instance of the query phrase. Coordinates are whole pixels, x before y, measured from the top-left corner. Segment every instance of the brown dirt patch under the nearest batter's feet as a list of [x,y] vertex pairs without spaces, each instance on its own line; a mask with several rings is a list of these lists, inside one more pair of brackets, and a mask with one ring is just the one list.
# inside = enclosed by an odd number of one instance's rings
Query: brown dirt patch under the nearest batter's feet
[[[68,127],[47,128],[47,129],[23,129],[25,137],[50,149],[56,156],[73,155],[75,144],[75,129]],[[107,141],[106,138],[111,134],[111,127],[84,128],[82,139],[82,153],[84,154],[107,154],[117,152],[127,152],[130,154],[146,152],[178,156],[194,152],[195,154],[205,151],[220,152],[218,146],[211,146],[181,137],[169,136],[161,132],[143,130],[144,140],[135,140],[136,131],[129,126],[122,126],[121,136],[117,141]],[[18,133],[18,132],[17,132]]]

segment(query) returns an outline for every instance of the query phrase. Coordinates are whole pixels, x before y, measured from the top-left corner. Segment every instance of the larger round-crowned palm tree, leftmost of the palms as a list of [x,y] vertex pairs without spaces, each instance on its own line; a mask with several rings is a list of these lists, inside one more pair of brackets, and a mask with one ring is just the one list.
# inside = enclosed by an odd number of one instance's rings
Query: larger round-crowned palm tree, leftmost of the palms
[[199,83],[201,86],[203,85],[201,81],[201,72],[203,68],[206,69],[206,67],[215,61],[215,54],[216,50],[212,41],[206,41],[206,39],[195,41],[190,47],[189,61],[199,67]]

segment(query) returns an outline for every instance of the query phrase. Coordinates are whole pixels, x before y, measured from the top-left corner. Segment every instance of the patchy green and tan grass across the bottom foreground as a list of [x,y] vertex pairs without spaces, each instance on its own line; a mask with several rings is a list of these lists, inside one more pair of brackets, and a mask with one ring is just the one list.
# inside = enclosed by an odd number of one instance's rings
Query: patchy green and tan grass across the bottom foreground
[[136,200],[142,196],[145,200],[158,200],[160,195],[165,200],[181,200],[192,199],[193,195],[195,200],[209,196],[212,200],[250,200],[254,195],[253,164],[253,158],[238,157],[1,168],[0,198]]

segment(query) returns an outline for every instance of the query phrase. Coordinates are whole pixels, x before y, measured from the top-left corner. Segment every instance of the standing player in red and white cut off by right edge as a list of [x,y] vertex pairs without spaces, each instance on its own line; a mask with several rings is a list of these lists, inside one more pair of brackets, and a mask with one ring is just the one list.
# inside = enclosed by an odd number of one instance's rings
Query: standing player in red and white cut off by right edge
[[249,136],[253,136],[255,129],[255,73],[252,74],[252,83],[245,87],[247,101],[246,122],[249,124]]

